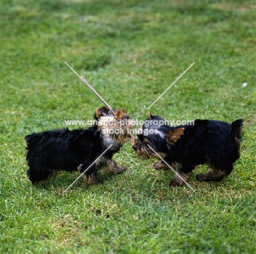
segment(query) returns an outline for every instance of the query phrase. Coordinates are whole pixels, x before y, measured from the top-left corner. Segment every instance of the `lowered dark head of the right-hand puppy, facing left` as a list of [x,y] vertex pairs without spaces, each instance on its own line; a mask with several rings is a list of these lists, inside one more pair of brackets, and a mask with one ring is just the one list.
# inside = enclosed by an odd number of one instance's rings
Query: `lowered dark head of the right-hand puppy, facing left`
[[137,138],[132,137],[132,148],[141,159],[159,159],[158,155],[165,158],[183,132],[184,128],[171,128],[164,119],[149,112],[148,119],[138,130]]

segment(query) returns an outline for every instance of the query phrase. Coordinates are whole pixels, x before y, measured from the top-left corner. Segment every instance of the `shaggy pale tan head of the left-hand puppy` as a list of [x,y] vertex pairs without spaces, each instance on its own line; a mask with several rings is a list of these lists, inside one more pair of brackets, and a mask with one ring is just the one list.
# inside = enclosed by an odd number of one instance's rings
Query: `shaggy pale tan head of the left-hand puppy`
[[126,110],[114,110],[113,115],[107,107],[102,107],[96,110],[94,117],[104,141],[123,146],[130,140],[132,136],[130,130],[135,123],[129,118]]

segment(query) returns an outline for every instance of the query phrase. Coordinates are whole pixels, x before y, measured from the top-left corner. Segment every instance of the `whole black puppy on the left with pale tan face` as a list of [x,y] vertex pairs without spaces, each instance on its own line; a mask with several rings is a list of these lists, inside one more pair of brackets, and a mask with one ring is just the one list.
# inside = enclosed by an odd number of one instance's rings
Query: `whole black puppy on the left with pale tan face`
[[83,173],[109,146],[107,152],[84,173],[83,182],[87,185],[101,183],[97,172],[102,167],[114,174],[126,170],[112,159],[113,154],[118,153],[131,138],[133,125],[126,110],[116,110],[113,115],[107,107],[102,107],[96,110],[94,118],[94,125],[88,129],[57,129],[25,137],[27,175],[32,184],[40,184],[59,171],[78,170]]

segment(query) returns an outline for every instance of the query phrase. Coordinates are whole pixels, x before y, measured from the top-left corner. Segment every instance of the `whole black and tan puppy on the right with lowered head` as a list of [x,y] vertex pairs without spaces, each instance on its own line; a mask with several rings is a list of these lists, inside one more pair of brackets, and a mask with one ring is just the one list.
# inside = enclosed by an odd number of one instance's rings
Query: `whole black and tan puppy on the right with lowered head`
[[[197,174],[196,179],[200,181],[220,181],[231,173],[235,160],[240,158],[243,119],[232,124],[197,119],[194,125],[176,127],[164,122],[149,112],[141,134],[132,138],[133,149],[139,158],[159,159],[155,152],[158,153],[168,165],[176,166],[176,172],[185,182],[188,182],[195,166],[200,164],[211,168],[206,174]],[[160,160],[153,167],[157,170],[167,168],[164,161]],[[183,185],[180,177],[175,175],[170,185]]]

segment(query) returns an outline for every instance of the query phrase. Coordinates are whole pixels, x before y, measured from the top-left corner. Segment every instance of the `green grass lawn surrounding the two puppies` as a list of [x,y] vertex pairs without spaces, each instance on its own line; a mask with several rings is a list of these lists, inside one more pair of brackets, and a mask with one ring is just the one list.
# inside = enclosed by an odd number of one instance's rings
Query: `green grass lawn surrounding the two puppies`
[[[50,1],[0,3],[1,253],[255,253],[255,1]],[[195,2],[195,3],[193,3]],[[241,3],[242,2],[242,3]],[[24,137],[91,120],[100,101],[145,119],[245,119],[241,158],[220,183],[171,188],[170,171],[139,160],[100,172],[89,188],[77,173],[43,186],[26,176]],[[242,88],[242,83],[248,86]]]

